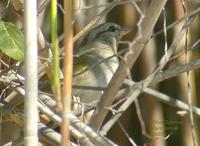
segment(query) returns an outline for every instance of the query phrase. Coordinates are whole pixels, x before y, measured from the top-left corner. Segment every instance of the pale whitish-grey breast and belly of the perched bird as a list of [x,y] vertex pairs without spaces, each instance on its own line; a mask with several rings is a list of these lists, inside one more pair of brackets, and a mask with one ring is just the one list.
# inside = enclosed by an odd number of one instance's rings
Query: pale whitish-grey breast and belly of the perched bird
[[[90,53],[84,55],[87,68],[73,78],[73,84],[79,86],[106,87],[116,71],[119,61],[110,46],[97,46]],[[78,59],[78,58],[77,58]],[[73,94],[79,96],[83,102],[99,100],[102,91],[73,89]]]

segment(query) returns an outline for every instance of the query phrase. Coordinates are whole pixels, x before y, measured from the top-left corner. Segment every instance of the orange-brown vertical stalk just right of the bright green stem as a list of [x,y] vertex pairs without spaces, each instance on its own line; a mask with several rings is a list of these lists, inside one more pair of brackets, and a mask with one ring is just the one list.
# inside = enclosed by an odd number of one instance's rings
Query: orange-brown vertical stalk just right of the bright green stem
[[72,28],[72,0],[64,1],[64,85],[62,92],[62,125],[61,146],[70,142],[69,120],[67,113],[71,111],[72,73],[73,73],[73,28]]

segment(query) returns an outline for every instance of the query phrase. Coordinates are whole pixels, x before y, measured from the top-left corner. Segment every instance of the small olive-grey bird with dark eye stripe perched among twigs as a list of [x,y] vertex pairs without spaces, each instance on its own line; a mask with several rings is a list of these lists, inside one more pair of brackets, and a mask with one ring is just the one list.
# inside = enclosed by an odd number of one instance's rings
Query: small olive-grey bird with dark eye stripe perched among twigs
[[[107,22],[91,29],[84,37],[81,47],[74,50],[73,95],[85,105],[98,103],[103,89],[115,73],[119,59],[117,46],[127,29]],[[102,88],[101,90],[80,87]]]

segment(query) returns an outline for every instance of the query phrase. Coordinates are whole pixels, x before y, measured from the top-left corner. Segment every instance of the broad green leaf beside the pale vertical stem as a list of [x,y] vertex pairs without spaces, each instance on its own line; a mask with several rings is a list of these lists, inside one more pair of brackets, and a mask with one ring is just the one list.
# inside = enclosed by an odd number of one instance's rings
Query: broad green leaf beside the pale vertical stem
[[7,56],[22,61],[24,59],[24,35],[16,25],[0,22],[0,50]]

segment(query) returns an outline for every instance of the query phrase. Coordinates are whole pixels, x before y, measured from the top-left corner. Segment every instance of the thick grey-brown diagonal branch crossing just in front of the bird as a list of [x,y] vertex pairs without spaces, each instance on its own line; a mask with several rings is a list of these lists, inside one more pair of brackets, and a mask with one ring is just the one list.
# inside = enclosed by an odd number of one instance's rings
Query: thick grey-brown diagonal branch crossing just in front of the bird
[[[98,103],[97,109],[95,110],[95,113],[91,119],[91,126],[94,129],[97,130],[101,127],[102,122],[108,112],[107,110],[105,110],[104,107],[109,107],[114,101],[114,96],[116,95],[117,91],[123,84],[124,79],[126,78],[127,69],[133,66],[138,56],[141,54],[165,3],[166,0],[153,0],[144,19],[143,14],[141,15],[138,22],[138,36],[131,43],[130,50],[125,54],[123,61],[121,61],[117,71],[112,77],[111,82],[109,83],[100,102]],[[132,102],[130,101],[128,106],[131,103]]]

